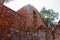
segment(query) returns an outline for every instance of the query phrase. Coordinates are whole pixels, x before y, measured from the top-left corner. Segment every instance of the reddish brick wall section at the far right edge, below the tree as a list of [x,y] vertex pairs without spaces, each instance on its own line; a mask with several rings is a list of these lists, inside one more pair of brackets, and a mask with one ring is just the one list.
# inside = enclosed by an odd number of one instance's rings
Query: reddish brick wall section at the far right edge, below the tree
[[53,36],[54,36],[54,40],[60,40],[60,21],[54,27]]

